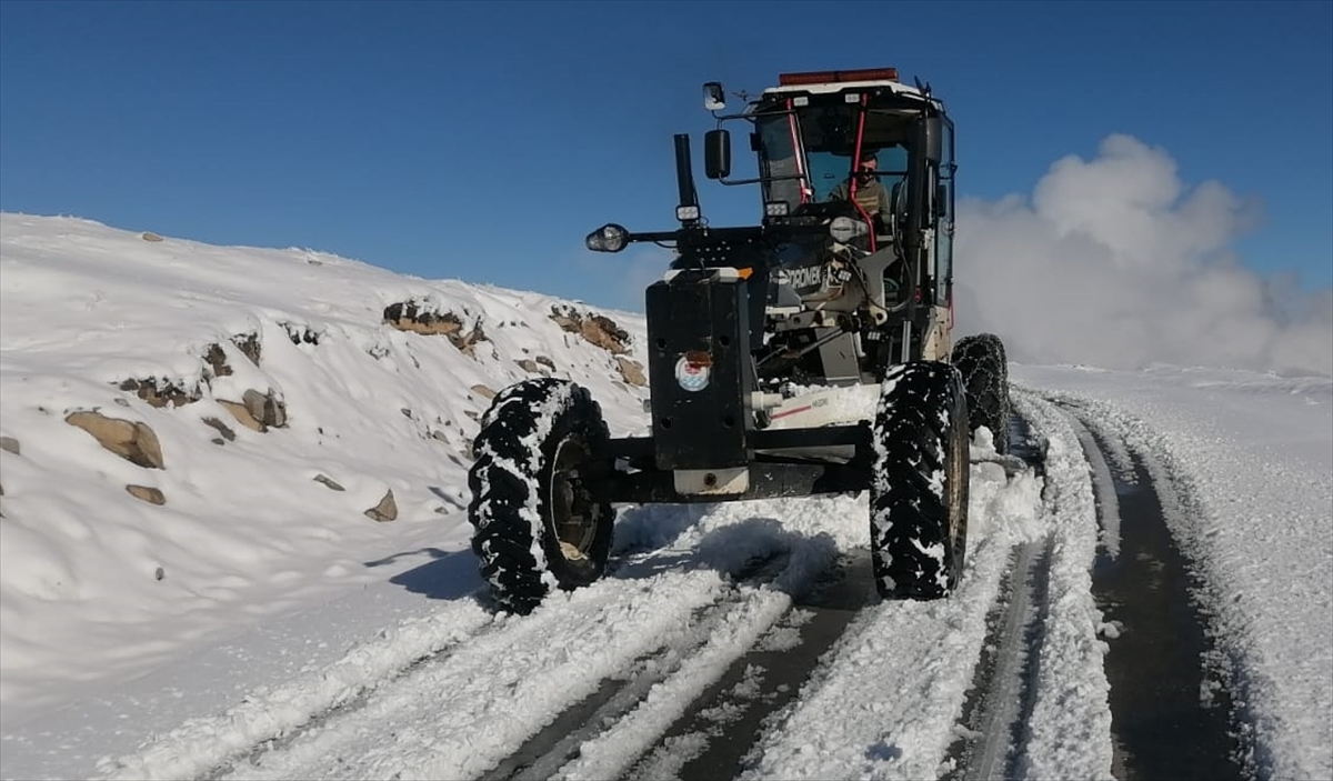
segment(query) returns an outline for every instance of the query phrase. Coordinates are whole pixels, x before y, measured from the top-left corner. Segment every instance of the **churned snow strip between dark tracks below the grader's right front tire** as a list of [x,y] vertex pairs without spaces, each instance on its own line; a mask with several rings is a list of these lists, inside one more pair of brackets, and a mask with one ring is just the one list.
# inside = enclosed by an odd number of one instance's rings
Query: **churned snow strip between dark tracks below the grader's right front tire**
[[[1045,534],[1033,470],[1006,476],[984,453],[973,453],[981,458],[972,465],[974,528],[953,597],[884,602],[872,596],[820,656],[797,697],[764,718],[758,740],[736,732],[677,734],[677,744],[664,741],[640,765],[643,777],[921,778],[946,772],[1009,552]],[[722,741],[750,750],[734,766],[706,765],[705,757],[738,753],[734,745],[718,746]]]

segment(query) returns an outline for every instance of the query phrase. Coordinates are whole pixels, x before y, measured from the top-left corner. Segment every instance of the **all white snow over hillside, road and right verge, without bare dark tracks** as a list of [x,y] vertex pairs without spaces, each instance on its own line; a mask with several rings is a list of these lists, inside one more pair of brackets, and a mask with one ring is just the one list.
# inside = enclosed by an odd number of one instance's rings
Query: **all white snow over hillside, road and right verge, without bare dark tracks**
[[[644,339],[640,315],[537,293],[0,215],[0,776],[477,774],[664,644],[641,705],[551,769],[623,776],[757,638],[792,641],[790,594],[866,544],[864,497],[633,508],[616,577],[524,618],[472,598],[489,394],[572,377],[613,434],[637,432]],[[1006,476],[973,442],[960,597],[861,606],[753,774],[946,773],[1012,552],[1042,540],[1017,777],[1109,777],[1102,656],[1136,628],[1102,621],[1089,570],[1118,550],[1110,473],[1133,460],[1201,584],[1248,766],[1333,774],[1333,380],[1013,364],[1010,381],[1044,472]],[[1125,449],[1089,461],[1092,434]],[[777,554],[781,588],[732,580]],[[678,757],[651,760],[664,777]]]

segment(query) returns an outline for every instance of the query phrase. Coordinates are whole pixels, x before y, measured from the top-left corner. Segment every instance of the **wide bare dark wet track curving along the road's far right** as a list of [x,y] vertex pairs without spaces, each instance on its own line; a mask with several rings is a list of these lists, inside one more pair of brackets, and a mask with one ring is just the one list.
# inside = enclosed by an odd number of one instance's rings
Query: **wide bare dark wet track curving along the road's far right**
[[[1093,424],[1085,410],[1061,408],[1082,428],[1085,449],[1125,453],[1114,473],[1098,474],[1104,521],[1117,533],[1093,578],[1110,628],[1117,778],[1252,777],[1245,757],[1253,746],[1238,737],[1246,730],[1229,724],[1234,705],[1226,676],[1209,669],[1218,653],[1198,602],[1202,582],[1166,524],[1173,492],[1157,484],[1144,453],[1104,428],[1088,432]],[[1089,461],[1098,458],[1090,453]],[[1121,524],[1128,529],[1124,556]]]

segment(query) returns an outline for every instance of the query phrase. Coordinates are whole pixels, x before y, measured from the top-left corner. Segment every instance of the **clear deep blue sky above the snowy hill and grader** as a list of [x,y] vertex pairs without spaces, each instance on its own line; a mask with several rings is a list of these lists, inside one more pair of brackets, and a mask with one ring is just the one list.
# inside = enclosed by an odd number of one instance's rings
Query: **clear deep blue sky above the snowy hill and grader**
[[[1030,197],[1110,133],[1257,199],[1236,243],[1333,284],[1333,3],[0,3],[0,209],[641,307],[700,84],[896,65],[958,127],[960,192]],[[740,151],[741,145],[737,145]]]

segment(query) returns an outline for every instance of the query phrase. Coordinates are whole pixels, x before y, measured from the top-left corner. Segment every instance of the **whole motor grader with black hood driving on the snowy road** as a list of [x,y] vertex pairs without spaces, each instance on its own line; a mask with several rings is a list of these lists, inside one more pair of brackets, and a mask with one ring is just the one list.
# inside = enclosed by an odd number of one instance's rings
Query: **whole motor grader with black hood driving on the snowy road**
[[[705,175],[756,185],[758,221],[708,224],[676,135],[680,225],[588,235],[596,252],[672,252],[645,296],[651,433],[611,437],[569,380],[501,390],[469,472],[481,574],[528,613],[603,577],[616,504],[865,490],[880,594],[948,597],[970,434],[988,428],[1004,452],[1009,417],[1001,341],[953,335],[953,123],[893,68],[785,73],[734,113],[708,83],[704,105]],[[733,127],[756,156],[748,179],[732,176]],[[857,197],[873,183],[877,205]]]

